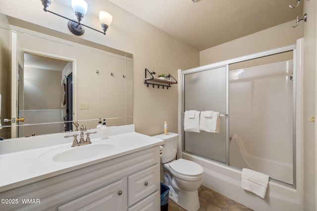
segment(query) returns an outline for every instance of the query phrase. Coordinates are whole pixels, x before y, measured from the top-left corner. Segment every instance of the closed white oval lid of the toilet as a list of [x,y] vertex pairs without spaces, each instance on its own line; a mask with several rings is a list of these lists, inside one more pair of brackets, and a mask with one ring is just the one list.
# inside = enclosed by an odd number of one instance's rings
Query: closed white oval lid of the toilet
[[188,176],[196,176],[204,172],[204,169],[201,167],[201,165],[184,159],[178,159],[170,163],[169,167],[177,173]]

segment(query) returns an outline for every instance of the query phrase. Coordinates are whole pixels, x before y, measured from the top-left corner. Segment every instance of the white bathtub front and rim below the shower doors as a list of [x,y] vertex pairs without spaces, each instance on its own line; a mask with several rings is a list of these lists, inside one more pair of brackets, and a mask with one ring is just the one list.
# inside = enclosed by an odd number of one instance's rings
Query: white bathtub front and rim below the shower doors
[[195,155],[182,153],[183,159],[204,168],[202,185],[255,211],[303,211],[301,188],[294,189],[269,181],[265,198],[241,188],[241,170]]

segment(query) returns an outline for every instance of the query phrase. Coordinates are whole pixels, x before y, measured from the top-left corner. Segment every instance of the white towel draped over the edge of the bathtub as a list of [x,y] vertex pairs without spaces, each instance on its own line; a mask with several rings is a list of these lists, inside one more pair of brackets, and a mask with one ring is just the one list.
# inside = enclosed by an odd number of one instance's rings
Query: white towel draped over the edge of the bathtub
[[264,199],[269,176],[251,169],[242,169],[241,187]]

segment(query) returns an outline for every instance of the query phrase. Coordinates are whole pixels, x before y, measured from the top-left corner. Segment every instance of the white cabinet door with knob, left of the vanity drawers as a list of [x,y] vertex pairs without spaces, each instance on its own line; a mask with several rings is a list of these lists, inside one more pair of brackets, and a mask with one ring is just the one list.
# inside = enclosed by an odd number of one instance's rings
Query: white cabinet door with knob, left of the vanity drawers
[[124,195],[127,193],[121,179],[59,206],[58,211],[122,211]]

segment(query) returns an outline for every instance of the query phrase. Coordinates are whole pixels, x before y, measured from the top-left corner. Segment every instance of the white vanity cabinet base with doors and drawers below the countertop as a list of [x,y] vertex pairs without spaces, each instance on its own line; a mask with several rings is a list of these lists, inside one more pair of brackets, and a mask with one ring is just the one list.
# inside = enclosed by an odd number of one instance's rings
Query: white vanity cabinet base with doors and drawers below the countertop
[[[1,211],[159,211],[159,145],[0,192]],[[23,204],[39,199],[40,204]]]

